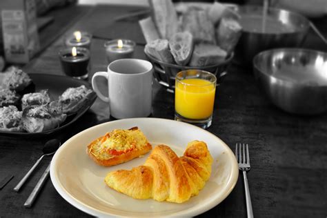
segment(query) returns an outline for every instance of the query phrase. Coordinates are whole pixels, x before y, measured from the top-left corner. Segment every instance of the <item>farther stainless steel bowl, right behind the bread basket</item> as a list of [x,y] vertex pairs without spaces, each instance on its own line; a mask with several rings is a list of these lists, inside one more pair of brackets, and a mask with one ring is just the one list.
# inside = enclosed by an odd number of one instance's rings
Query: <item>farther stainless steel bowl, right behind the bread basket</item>
[[[240,6],[237,10],[241,19],[246,16],[262,17],[263,14],[263,8],[259,6]],[[304,42],[310,28],[310,21],[306,17],[277,8],[270,8],[267,16],[280,21],[290,31],[262,33],[244,29],[235,49],[235,60],[241,65],[252,66],[253,57],[261,51],[272,48],[299,47]]]

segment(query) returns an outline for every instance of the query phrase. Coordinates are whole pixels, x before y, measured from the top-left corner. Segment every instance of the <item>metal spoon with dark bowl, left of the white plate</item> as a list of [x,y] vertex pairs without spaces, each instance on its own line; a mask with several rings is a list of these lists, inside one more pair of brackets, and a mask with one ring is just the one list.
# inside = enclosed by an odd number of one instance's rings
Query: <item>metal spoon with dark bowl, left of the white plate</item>
[[60,146],[60,141],[58,141],[57,139],[51,139],[46,142],[46,144],[44,145],[44,147],[42,149],[43,155],[37,160],[37,162],[32,166],[32,168],[30,168],[30,170],[28,170],[28,172],[23,177],[23,179],[21,179],[21,181],[19,181],[19,184],[17,184],[17,186],[14,187],[14,190],[16,192],[18,192],[19,189],[21,188],[21,186],[23,186],[23,184],[28,179],[28,177],[30,177],[30,175],[32,174],[34,169],[37,168],[37,166],[39,165],[39,163],[41,162],[43,157],[48,156],[48,155],[53,155],[54,152],[56,152],[56,150],[59,148],[59,146]]

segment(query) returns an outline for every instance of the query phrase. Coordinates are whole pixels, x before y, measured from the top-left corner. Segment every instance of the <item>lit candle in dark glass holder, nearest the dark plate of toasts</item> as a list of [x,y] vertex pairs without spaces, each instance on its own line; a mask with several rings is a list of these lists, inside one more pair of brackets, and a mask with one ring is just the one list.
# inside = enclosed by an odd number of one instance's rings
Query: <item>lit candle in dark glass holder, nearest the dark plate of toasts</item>
[[77,79],[88,78],[90,51],[87,48],[64,48],[59,51],[59,59],[66,75]]

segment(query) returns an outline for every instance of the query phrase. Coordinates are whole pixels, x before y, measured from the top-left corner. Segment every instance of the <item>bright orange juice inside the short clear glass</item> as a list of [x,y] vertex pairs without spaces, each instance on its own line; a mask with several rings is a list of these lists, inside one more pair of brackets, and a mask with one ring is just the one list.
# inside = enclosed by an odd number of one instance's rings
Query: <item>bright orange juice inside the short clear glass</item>
[[206,119],[212,115],[215,83],[205,79],[176,81],[175,110],[188,119]]

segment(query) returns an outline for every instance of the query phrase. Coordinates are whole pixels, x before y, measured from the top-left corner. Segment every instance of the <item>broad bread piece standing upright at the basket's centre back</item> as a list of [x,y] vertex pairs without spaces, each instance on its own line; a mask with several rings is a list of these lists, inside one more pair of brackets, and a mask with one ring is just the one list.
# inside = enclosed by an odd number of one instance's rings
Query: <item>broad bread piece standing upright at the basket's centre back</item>
[[193,35],[196,43],[215,43],[215,28],[205,10],[189,10],[182,17],[182,28]]

